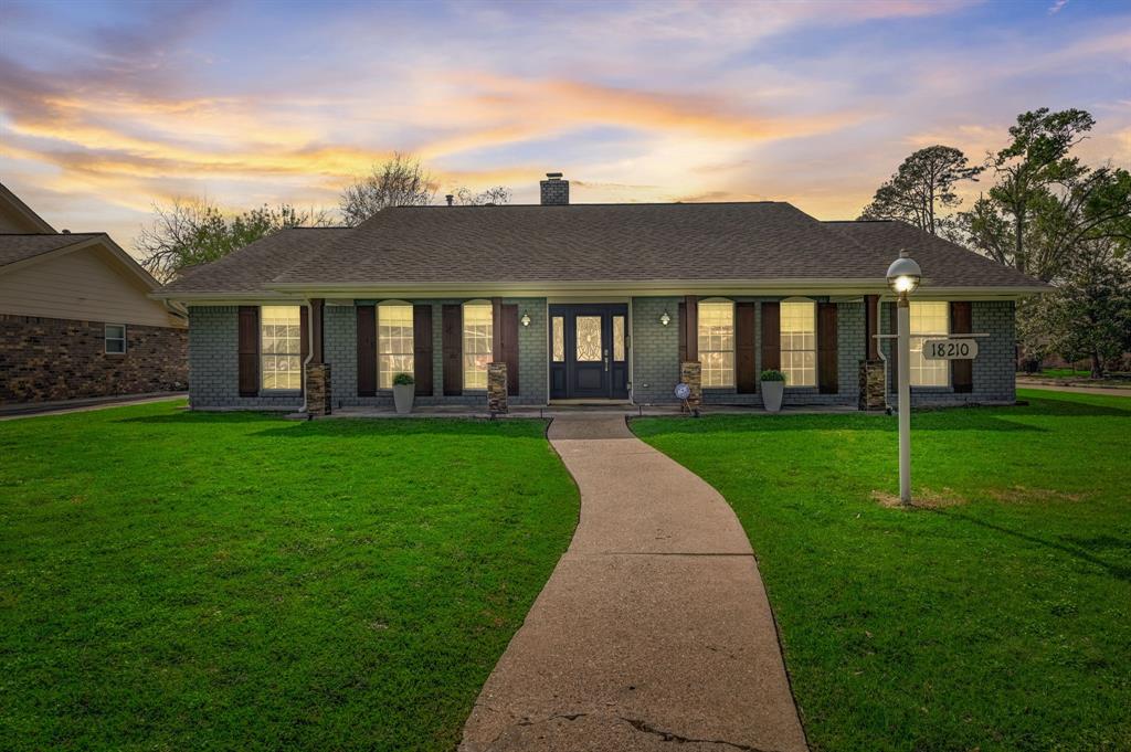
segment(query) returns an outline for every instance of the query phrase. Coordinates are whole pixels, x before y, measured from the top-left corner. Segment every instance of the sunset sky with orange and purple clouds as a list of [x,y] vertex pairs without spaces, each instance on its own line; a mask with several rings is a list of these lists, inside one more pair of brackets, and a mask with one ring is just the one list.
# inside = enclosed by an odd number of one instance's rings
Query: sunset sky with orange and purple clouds
[[335,208],[394,150],[441,197],[561,171],[576,202],[852,218],[1039,106],[1131,165],[1131,3],[0,2],[0,181],[124,247],[173,197]]

